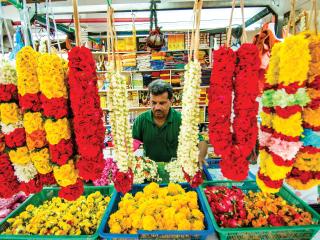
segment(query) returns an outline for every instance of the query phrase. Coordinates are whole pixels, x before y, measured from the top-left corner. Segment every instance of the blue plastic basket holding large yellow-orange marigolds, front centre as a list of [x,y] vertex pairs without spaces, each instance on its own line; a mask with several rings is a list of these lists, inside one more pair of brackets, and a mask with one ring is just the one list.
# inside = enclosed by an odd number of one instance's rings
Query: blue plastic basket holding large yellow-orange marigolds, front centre
[[[135,194],[138,191],[142,191],[147,184],[136,184],[133,185],[132,191],[130,193]],[[192,190],[188,183],[180,183],[180,185],[186,190]],[[161,187],[167,186],[167,184],[160,184]],[[103,239],[206,239],[206,237],[214,232],[213,225],[210,221],[208,212],[204,206],[204,199],[201,197],[199,189],[196,189],[198,194],[198,204],[200,210],[204,214],[204,224],[205,230],[202,231],[178,231],[178,230],[159,230],[159,231],[144,231],[139,230],[137,234],[112,234],[110,233],[110,228],[108,226],[108,220],[114,212],[118,210],[118,204],[121,200],[122,194],[116,192],[113,194],[111,201],[109,203],[107,213],[104,215],[100,227],[99,236]]]

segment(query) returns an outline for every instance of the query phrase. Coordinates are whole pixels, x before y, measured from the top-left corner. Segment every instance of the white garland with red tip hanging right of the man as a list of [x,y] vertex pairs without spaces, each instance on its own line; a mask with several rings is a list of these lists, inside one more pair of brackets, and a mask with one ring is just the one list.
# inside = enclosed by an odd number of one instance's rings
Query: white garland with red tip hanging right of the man
[[[197,187],[203,182],[198,162],[198,124],[201,82],[201,65],[198,61],[189,61],[185,66],[184,88],[182,94],[182,122],[178,138],[177,161],[185,178]],[[171,175],[171,173],[169,172]],[[171,177],[172,178],[172,177]]]

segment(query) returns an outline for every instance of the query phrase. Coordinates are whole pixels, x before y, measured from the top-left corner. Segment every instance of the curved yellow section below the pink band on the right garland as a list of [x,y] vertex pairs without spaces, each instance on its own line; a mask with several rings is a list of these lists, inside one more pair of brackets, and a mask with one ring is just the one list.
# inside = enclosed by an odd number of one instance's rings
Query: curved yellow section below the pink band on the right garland
[[260,171],[271,180],[281,180],[291,171],[292,167],[278,166],[272,156],[265,150],[260,150]]

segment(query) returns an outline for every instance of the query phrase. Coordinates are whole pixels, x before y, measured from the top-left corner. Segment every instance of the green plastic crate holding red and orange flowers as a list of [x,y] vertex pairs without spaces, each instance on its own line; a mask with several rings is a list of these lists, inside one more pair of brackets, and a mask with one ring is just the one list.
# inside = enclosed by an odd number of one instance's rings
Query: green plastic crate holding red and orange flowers
[[204,192],[204,189],[207,186],[226,186],[229,188],[236,186],[244,192],[248,192],[249,190],[257,192],[259,191],[259,188],[256,182],[253,180],[246,180],[243,182],[209,181],[200,186],[200,193],[205,199],[205,206],[209,212],[210,219],[215,230],[219,233],[221,240],[310,240],[320,230],[320,215],[286,187],[282,187],[277,195],[281,196],[288,203],[294,204],[297,207],[310,212],[313,220],[318,222],[318,225],[261,228],[222,228],[216,222]]

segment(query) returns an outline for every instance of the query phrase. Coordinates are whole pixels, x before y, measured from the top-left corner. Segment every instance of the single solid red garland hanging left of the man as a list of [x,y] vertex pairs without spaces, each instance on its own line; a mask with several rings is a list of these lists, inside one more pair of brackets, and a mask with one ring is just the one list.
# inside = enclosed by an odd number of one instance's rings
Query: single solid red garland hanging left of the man
[[80,154],[79,175],[85,180],[100,178],[103,168],[105,128],[97,89],[95,62],[88,48],[75,47],[68,55],[70,102],[75,139]]

